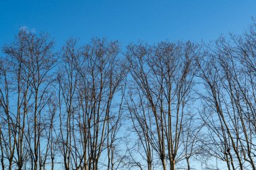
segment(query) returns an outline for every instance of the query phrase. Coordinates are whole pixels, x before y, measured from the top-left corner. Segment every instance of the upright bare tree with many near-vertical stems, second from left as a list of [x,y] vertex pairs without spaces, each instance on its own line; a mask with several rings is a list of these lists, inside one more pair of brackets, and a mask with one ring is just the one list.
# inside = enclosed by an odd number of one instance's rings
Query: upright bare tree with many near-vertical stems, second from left
[[[59,75],[59,100],[65,105],[65,110],[59,109],[65,169],[98,169],[102,153],[108,160],[102,166],[114,169],[125,90],[121,83],[126,74],[119,46],[98,39],[82,48],[75,43],[69,40],[63,48]],[[113,101],[116,94],[120,102]]]

